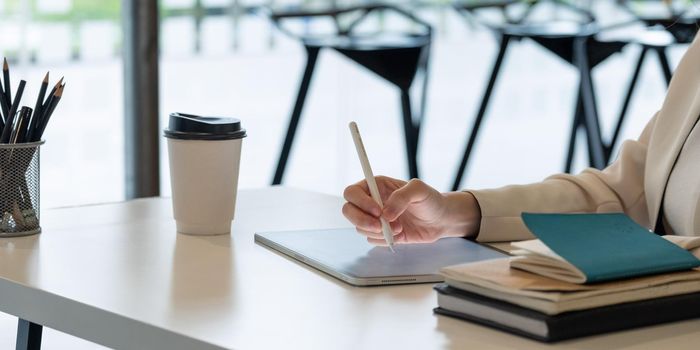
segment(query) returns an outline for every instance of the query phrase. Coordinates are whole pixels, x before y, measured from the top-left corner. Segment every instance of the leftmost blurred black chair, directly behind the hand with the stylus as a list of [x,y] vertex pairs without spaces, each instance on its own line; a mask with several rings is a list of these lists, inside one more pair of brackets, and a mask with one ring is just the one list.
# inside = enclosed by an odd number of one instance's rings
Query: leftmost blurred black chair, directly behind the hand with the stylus
[[[360,24],[370,14],[380,11],[393,12],[420,27],[417,32],[391,33],[375,31],[363,33]],[[343,19],[355,16],[348,24]],[[273,23],[285,33],[301,40],[307,53],[306,68],[299,86],[296,102],[289,120],[284,145],[280,152],[273,185],[282,183],[285,168],[291,151],[294,136],[299,125],[309,84],[313,76],[316,60],[322,48],[333,49],[381,78],[399,88],[403,112],[404,136],[409,174],[413,178],[418,173],[418,138],[425,110],[426,87],[428,82],[428,60],[432,40],[432,28],[410,12],[390,5],[363,5],[335,8],[327,11],[270,11]],[[335,24],[335,33],[330,35],[296,34],[287,30],[283,22],[291,19],[330,18]],[[422,75],[423,86],[420,106],[414,112],[409,91],[418,75]]]

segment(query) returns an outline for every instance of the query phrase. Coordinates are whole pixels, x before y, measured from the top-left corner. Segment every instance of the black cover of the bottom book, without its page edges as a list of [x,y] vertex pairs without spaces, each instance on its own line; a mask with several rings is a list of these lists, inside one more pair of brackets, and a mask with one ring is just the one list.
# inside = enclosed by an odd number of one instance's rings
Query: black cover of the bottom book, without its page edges
[[549,316],[522,306],[452,288],[445,283],[437,284],[435,290],[438,293],[455,296],[479,303],[482,306],[543,322],[546,324],[549,334],[546,336],[531,334],[522,329],[494,322],[493,320],[447,310],[442,307],[434,309],[435,313],[464,319],[542,342],[556,342],[700,317],[700,293],[610,305]]

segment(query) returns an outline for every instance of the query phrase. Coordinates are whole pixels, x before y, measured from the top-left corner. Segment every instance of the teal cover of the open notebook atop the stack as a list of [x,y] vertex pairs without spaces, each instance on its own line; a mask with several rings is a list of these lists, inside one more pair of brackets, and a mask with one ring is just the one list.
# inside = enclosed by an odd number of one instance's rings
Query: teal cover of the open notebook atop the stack
[[700,266],[687,250],[625,214],[523,213],[530,231],[586,276],[586,283],[688,270]]

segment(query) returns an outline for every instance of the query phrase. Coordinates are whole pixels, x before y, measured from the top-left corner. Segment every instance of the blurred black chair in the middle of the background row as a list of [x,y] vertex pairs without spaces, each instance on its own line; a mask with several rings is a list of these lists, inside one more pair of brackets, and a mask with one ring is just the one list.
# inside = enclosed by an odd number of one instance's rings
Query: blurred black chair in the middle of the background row
[[[486,90],[477,111],[476,118],[474,119],[469,140],[467,141],[461,163],[455,176],[452,186],[453,190],[458,190],[460,188],[467,163],[478,137],[479,129],[483,123],[491,93],[495,87],[496,80],[501,70],[501,64],[503,63],[509,44],[512,41],[519,41],[522,39],[535,41],[548,51],[574,66],[580,74],[578,98],[573,116],[564,171],[569,172],[571,170],[576,145],[576,135],[580,129],[583,129],[586,134],[590,165],[596,168],[603,168],[608,163],[608,147],[600,131],[591,71],[595,66],[611,55],[620,52],[622,48],[627,45],[627,42],[598,40],[596,36],[601,31],[601,28],[597,25],[593,15],[584,9],[563,1],[552,0],[549,1],[549,3],[578,14],[579,17],[581,17],[580,20],[528,23],[528,16],[530,16],[534,7],[542,2],[545,1],[530,1],[525,4],[523,4],[523,2],[513,1],[489,2],[491,8],[497,7],[504,13],[504,22],[497,24],[485,23],[485,25],[496,34],[500,42],[499,49],[486,85]],[[512,15],[507,15],[507,10],[510,6],[525,6],[525,9],[521,11],[519,17],[513,18]],[[473,16],[478,10],[488,7],[478,2],[468,2],[456,4],[455,8],[459,13]]]

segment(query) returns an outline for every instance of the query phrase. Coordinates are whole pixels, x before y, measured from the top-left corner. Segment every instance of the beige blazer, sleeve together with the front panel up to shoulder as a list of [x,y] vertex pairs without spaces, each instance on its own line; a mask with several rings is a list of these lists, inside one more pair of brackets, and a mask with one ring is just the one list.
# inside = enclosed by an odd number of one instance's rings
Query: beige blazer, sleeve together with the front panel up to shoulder
[[[472,193],[481,207],[478,241],[531,239],[520,214],[624,212],[654,229],[671,169],[700,115],[700,36],[683,56],[661,109],[603,170],[559,174],[530,185]],[[700,180],[699,180],[700,181]]]

